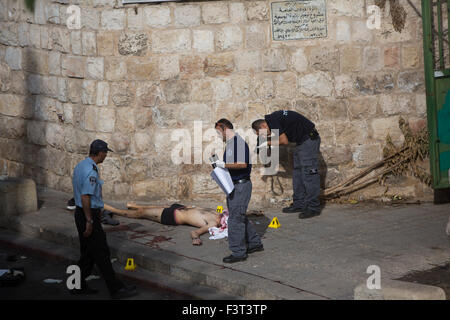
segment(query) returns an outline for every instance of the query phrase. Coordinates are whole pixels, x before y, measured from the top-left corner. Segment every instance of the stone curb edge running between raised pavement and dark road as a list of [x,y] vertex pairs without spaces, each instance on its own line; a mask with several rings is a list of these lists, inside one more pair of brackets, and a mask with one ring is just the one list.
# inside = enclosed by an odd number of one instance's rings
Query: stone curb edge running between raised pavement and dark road
[[[3,220],[3,227],[19,232],[20,235],[45,240],[78,250],[78,235],[58,231],[58,226],[41,227],[35,223],[17,220]],[[226,296],[241,297],[249,300],[328,300],[328,297],[277,283],[255,274],[242,272],[233,267],[215,265],[192,257],[181,256],[167,250],[148,248],[139,250],[133,243],[124,243],[121,239],[108,237],[111,255],[125,265],[128,257],[133,257],[136,264],[147,271],[155,272],[188,282],[190,285],[205,286],[218,290]],[[201,271],[198,271],[201,270]],[[214,296],[208,299],[214,299]]]

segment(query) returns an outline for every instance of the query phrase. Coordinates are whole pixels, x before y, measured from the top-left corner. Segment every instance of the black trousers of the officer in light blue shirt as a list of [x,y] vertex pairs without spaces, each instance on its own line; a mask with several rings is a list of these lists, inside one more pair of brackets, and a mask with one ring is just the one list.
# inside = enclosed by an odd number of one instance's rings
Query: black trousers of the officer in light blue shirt
[[83,236],[86,230],[86,217],[82,208],[77,207],[75,210],[75,224],[78,230],[78,238],[80,239],[80,260],[78,266],[81,270],[81,287],[86,286],[86,277],[88,277],[94,264],[100,270],[105,279],[106,286],[110,294],[121,289],[124,285],[116,278],[116,274],[111,264],[111,253],[108,243],[106,242],[106,234],[103,231],[100,221],[100,210],[91,209],[92,233],[89,237]]

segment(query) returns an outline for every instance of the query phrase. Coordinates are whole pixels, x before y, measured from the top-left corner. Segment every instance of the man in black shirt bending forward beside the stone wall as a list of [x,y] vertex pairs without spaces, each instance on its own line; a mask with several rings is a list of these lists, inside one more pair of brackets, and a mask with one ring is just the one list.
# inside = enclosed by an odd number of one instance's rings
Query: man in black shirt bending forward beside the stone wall
[[[268,114],[264,119],[252,123],[252,128],[266,140],[259,148],[270,145],[287,145],[294,142],[294,170],[292,183],[293,204],[283,208],[285,213],[300,212],[300,219],[312,218],[320,214],[319,151],[321,139],[315,124],[298,112],[280,110]],[[279,130],[279,141],[268,137],[272,130]]]

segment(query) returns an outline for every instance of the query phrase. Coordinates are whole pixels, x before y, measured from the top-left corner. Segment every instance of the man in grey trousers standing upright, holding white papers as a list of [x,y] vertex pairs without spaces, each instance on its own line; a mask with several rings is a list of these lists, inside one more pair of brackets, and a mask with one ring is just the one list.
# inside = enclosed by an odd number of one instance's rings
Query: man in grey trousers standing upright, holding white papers
[[233,131],[233,124],[227,119],[217,121],[215,129],[226,142],[223,161],[214,164],[227,168],[234,183],[233,192],[227,196],[228,246],[231,255],[223,258],[225,263],[234,263],[247,259],[247,254],[263,251],[264,246],[255,228],[246,216],[248,203],[252,195],[250,173],[250,152],[247,143]]

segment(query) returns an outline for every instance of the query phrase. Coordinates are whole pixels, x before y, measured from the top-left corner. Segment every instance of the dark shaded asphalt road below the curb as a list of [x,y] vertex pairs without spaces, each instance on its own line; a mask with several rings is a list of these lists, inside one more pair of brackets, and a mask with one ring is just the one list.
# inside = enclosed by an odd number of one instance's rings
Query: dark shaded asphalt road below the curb
[[[12,261],[11,261],[12,260]],[[0,269],[22,267],[25,270],[26,279],[15,287],[0,286],[0,300],[105,300],[110,299],[105,282],[102,278],[89,281],[89,286],[99,290],[95,295],[72,295],[67,290],[66,273],[68,263],[48,259],[36,253],[20,252],[0,245]],[[94,271],[95,275],[99,275]],[[119,277],[120,278],[120,277]],[[61,283],[45,283],[46,279],[62,280]],[[151,287],[148,284],[133,283],[130,280],[123,281],[129,285],[136,285],[139,294],[130,299],[133,300],[186,300],[191,297],[178,294],[159,287]]]

